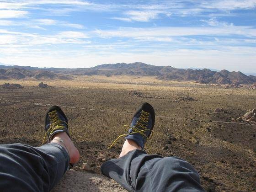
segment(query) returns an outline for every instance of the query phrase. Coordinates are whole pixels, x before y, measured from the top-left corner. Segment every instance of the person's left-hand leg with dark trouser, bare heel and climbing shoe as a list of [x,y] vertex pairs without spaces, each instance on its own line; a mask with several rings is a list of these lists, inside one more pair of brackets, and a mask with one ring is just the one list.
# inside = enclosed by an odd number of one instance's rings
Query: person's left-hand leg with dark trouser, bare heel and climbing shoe
[[[53,114],[54,113],[54,114]],[[64,112],[51,107],[45,130],[49,143],[0,145],[0,188],[3,191],[50,191],[80,154],[71,141]]]

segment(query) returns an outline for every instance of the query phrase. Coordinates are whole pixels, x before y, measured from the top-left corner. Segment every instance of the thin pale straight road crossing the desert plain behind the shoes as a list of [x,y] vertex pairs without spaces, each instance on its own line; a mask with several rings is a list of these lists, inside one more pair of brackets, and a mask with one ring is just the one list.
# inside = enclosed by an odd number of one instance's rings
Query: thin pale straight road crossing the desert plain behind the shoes
[[[35,102],[27,102],[27,101],[15,101],[15,100],[7,100],[7,99],[0,99],[0,101],[7,101],[7,102],[16,102],[16,103],[28,103],[38,106],[53,106],[53,104],[48,103],[35,103]],[[99,111],[99,112],[118,112],[118,111],[110,111],[110,110],[102,110],[102,109],[91,109],[91,108],[83,108],[83,107],[71,107],[71,106],[64,106],[64,105],[58,105],[59,107],[66,107],[66,108],[75,108],[75,109],[82,109],[82,110],[88,110],[88,111]],[[118,112],[123,114],[133,114],[132,112]],[[168,116],[155,116],[160,118],[172,118],[172,119],[182,119],[187,120],[185,118],[179,118],[179,117],[168,117]],[[200,121],[200,122],[209,122],[209,120],[202,120],[202,119],[192,119],[194,121]],[[226,124],[240,124],[240,125],[252,125],[256,126],[256,124],[248,124],[248,123],[237,123],[237,122],[225,122],[225,121],[211,121],[213,123],[226,123]]]

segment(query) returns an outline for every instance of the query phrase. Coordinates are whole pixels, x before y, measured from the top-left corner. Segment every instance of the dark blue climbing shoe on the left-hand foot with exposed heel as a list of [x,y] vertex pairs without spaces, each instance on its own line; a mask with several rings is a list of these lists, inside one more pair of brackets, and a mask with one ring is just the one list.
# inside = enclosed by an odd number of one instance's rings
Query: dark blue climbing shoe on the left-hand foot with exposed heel
[[61,108],[57,105],[54,105],[48,109],[45,116],[44,129],[46,131],[46,134],[43,139],[43,143],[46,138],[46,135],[49,138],[49,143],[52,140],[53,135],[59,132],[66,132],[70,138],[68,118],[65,116]]

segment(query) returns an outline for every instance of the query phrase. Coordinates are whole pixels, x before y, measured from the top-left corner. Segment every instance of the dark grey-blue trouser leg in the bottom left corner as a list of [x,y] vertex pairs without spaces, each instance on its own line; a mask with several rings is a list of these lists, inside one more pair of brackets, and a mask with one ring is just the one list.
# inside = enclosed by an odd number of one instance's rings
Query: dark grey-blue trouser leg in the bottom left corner
[[69,155],[59,144],[32,147],[0,145],[0,189],[8,192],[48,192],[69,165]]

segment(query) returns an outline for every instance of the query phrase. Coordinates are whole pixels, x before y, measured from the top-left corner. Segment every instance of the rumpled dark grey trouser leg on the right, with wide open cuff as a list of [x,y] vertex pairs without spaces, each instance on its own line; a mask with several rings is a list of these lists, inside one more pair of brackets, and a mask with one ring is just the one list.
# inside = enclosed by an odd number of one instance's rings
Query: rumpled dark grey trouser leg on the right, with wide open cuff
[[197,171],[187,161],[178,157],[147,155],[139,149],[105,162],[101,172],[128,191],[204,191]]

